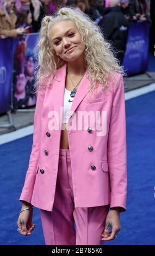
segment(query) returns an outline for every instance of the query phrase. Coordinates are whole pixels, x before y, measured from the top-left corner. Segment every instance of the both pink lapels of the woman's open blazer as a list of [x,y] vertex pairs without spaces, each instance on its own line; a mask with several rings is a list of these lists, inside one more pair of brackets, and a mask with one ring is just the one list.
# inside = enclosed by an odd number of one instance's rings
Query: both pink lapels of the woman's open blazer
[[[61,124],[61,120],[63,117],[63,105],[64,105],[64,93],[65,93],[65,81],[66,81],[66,69],[67,64],[60,68],[59,72],[55,76],[54,80],[54,110],[57,111],[59,115],[59,124]],[[79,84],[77,93],[74,97],[71,113],[75,112],[80,102],[88,93],[88,70],[86,70],[85,75],[82,81]],[[71,117],[71,114],[70,114]]]

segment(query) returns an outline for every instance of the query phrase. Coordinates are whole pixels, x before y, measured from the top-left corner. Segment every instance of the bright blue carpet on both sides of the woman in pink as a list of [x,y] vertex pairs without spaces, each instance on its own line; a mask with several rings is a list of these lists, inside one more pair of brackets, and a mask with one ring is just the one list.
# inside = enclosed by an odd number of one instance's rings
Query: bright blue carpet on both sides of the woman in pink
[[[155,92],[126,102],[128,197],[121,214],[121,231],[106,245],[155,245]],[[34,209],[36,228],[30,236],[17,233],[18,201],[27,170],[32,136],[0,146],[1,245],[44,245],[39,210]]]

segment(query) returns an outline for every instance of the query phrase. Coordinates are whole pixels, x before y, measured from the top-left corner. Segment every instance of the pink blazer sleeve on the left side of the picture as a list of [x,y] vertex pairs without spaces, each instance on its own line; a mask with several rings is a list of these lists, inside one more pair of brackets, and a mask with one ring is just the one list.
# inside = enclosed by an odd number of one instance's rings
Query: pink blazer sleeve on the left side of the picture
[[33,145],[32,152],[30,154],[28,170],[26,174],[26,179],[24,181],[24,186],[20,196],[20,200],[31,202],[33,188],[36,178],[36,171],[38,168],[38,159],[40,152],[40,137],[41,137],[41,116],[42,109],[44,105],[45,92],[39,90],[36,100],[35,114],[34,114],[34,134],[33,134]]

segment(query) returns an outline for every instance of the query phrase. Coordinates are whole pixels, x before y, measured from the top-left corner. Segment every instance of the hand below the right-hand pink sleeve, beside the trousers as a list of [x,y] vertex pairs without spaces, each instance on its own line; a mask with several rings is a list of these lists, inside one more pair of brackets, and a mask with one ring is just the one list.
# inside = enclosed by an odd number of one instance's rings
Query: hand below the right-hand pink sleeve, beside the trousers
[[[109,228],[112,227],[112,231],[109,231]],[[120,224],[120,211],[111,209],[108,212],[106,218],[106,225],[104,229],[104,233],[102,234],[102,239],[104,241],[109,241],[115,239],[117,233],[119,233],[121,229]]]

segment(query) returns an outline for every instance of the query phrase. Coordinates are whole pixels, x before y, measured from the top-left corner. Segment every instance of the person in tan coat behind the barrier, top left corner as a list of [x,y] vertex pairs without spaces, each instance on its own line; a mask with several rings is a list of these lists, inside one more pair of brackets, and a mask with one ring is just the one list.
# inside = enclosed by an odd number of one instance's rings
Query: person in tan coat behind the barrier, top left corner
[[23,28],[15,28],[17,16],[13,11],[14,0],[2,0],[0,3],[0,38],[22,35]]

